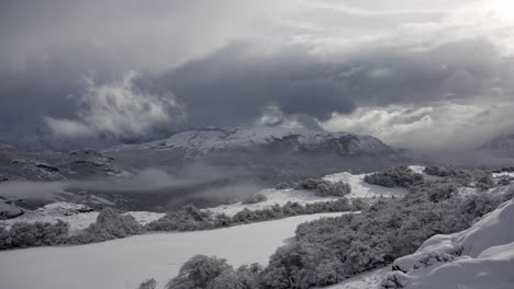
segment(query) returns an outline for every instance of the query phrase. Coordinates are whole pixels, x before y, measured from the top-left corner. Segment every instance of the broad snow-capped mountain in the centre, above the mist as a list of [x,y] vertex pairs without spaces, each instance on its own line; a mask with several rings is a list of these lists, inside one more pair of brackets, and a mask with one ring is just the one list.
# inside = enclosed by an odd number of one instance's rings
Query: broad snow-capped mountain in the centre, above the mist
[[312,129],[208,128],[167,139],[103,151],[130,170],[135,166],[208,166],[267,170],[266,175],[323,175],[342,169],[371,171],[398,162],[402,152],[377,138]]

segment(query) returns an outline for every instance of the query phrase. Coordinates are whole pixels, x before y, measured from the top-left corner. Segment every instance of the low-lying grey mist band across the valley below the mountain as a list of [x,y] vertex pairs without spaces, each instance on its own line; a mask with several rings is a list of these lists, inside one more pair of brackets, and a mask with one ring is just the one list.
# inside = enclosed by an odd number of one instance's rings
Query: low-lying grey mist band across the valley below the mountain
[[0,197],[88,203],[94,195],[120,208],[160,211],[189,204],[199,207],[226,204],[262,188],[265,186],[244,170],[191,165],[178,172],[165,167],[146,169],[124,176],[80,181],[10,181],[0,183]]

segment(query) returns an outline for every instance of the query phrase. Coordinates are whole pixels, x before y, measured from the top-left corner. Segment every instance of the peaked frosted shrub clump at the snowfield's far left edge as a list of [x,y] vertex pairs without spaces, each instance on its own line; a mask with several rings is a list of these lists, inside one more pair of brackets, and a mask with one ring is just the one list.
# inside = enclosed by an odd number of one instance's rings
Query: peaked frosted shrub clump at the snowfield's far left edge
[[131,215],[121,215],[113,208],[104,208],[91,223],[81,232],[67,239],[68,244],[88,244],[139,234],[141,224]]

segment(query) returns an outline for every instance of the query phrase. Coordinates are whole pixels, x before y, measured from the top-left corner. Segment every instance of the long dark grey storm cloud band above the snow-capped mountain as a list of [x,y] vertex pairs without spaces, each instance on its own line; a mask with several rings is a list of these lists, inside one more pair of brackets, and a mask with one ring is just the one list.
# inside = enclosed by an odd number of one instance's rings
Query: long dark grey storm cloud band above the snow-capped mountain
[[485,38],[416,50],[386,46],[329,60],[305,46],[270,54],[256,54],[256,47],[230,45],[143,85],[172,91],[186,104],[190,124],[225,126],[250,123],[267,106],[325,122],[357,106],[473,99],[512,79],[505,73],[509,61]]

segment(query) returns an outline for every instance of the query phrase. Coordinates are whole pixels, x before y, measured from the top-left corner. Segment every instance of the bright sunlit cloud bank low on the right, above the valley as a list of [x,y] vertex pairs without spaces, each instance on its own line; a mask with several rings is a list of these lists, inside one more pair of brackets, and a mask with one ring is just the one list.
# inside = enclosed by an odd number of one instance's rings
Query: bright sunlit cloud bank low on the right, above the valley
[[335,115],[322,127],[377,136],[398,147],[444,152],[474,149],[512,131],[512,109],[514,100],[509,99],[360,107],[350,115]]

